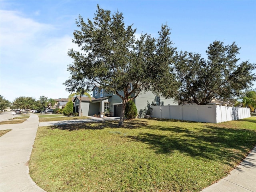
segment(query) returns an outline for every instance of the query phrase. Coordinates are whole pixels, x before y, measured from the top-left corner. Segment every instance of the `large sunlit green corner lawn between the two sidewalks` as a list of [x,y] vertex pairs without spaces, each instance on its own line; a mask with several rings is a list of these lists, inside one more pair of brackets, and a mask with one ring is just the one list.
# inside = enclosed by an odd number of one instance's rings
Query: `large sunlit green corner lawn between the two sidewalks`
[[256,118],[126,120],[39,127],[29,167],[47,192],[200,191],[256,145]]

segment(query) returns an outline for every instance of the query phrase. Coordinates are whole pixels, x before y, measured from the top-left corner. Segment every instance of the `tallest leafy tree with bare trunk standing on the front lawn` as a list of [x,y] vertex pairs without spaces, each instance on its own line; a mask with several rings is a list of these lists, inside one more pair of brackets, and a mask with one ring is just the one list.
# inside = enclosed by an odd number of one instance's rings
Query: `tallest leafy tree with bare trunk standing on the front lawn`
[[82,16],[76,20],[80,30],[74,31],[73,42],[81,51],[69,50],[68,55],[74,62],[68,71],[71,78],[84,81],[84,88],[97,84],[122,99],[119,122],[122,126],[126,103],[141,92],[164,89],[169,96],[174,93],[176,81],[169,64],[175,48],[166,24],[162,25],[157,39],[142,34],[136,40],[136,30],[132,25],[125,28],[122,13],[110,14],[109,10],[97,8],[93,21],[88,18],[85,22]]

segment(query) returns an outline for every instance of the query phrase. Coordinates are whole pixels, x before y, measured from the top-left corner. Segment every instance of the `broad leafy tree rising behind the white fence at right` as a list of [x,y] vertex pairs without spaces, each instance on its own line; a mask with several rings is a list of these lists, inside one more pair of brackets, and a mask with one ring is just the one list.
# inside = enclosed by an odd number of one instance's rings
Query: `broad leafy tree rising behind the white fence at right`
[[177,53],[173,64],[181,86],[175,99],[179,103],[204,105],[214,98],[230,100],[239,97],[241,90],[249,88],[256,80],[252,73],[256,68],[254,63],[238,64],[236,55],[239,50],[235,42],[224,46],[223,42],[214,41],[206,51],[207,60],[200,54]]

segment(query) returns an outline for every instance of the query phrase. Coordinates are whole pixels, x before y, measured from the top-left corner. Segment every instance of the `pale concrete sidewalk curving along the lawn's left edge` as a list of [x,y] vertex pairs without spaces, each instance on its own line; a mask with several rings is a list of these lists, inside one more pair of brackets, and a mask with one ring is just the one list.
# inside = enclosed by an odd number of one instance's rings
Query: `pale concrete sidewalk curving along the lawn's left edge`
[[31,114],[22,124],[1,125],[12,129],[0,137],[0,191],[44,192],[30,178],[28,160],[32,152],[39,118]]

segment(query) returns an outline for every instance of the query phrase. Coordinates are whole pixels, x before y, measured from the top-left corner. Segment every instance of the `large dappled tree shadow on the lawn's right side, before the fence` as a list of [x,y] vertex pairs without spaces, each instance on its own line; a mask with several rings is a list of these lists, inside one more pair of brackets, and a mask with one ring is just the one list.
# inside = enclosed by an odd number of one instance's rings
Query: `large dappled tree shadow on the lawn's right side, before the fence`
[[241,160],[244,154],[256,144],[256,132],[219,128],[205,125],[198,130],[180,126],[147,126],[153,130],[169,131],[164,134],[140,133],[137,136],[126,136],[131,141],[143,142],[148,148],[159,154],[179,151],[186,155],[217,160],[226,164]]

